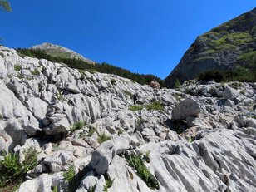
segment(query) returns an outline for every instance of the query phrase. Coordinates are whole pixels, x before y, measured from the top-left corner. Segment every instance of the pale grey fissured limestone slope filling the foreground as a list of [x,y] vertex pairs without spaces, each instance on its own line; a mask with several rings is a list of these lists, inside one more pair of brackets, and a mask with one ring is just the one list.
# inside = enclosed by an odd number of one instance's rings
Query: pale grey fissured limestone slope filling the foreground
[[0,159],[37,150],[19,192],[256,191],[255,83],[152,89],[0,47],[0,87]]

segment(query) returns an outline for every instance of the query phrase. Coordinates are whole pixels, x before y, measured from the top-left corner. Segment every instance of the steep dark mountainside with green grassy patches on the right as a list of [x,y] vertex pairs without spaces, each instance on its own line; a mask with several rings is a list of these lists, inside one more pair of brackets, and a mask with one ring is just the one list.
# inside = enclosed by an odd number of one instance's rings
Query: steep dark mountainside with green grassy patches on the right
[[176,79],[187,81],[205,71],[232,71],[238,65],[251,71],[256,66],[256,8],[197,37],[165,84],[171,87]]

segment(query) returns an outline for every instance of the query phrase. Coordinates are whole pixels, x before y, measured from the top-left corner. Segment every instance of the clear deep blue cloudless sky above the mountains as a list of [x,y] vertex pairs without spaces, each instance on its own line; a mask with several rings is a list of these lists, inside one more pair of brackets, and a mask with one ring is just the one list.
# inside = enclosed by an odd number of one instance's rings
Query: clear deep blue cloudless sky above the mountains
[[52,42],[96,62],[165,78],[200,34],[248,12],[255,0],[10,0],[0,42]]

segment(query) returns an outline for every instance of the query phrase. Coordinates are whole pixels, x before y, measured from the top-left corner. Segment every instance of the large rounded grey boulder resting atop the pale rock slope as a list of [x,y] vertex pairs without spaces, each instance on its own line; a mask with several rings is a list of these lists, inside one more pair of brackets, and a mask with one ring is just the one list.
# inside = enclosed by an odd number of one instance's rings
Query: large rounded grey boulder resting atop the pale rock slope
[[187,116],[198,116],[199,113],[199,104],[196,101],[187,98],[184,101],[180,101],[171,114],[173,120],[184,120]]

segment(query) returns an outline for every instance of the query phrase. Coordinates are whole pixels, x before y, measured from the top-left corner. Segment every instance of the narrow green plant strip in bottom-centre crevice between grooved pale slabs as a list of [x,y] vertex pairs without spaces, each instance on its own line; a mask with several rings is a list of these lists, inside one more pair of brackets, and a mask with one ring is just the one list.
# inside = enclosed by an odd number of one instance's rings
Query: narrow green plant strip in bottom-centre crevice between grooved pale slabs
[[145,184],[150,189],[159,189],[158,181],[155,180],[154,176],[150,173],[150,170],[146,167],[143,162],[143,157],[140,155],[129,155],[128,164],[136,170],[136,174],[145,181]]

